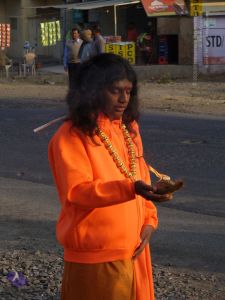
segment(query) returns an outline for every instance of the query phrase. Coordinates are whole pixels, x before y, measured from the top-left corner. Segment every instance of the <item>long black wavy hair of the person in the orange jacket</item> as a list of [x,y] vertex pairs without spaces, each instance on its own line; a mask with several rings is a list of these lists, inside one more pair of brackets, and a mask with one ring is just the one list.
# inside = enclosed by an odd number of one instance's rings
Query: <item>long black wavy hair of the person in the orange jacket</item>
[[97,55],[81,64],[76,81],[66,98],[73,126],[93,136],[98,115],[105,106],[105,90],[123,79],[129,80],[133,86],[129,104],[122,117],[128,130],[132,131],[131,123],[139,118],[137,77],[126,59],[112,53]]

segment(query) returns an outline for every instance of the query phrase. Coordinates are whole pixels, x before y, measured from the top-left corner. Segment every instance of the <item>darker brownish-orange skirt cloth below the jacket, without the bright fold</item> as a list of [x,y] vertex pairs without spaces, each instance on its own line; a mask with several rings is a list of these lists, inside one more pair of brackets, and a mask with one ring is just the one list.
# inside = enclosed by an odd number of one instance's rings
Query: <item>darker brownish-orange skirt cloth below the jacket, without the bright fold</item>
[[61,300],[136,300],[132,260],[65,262]]

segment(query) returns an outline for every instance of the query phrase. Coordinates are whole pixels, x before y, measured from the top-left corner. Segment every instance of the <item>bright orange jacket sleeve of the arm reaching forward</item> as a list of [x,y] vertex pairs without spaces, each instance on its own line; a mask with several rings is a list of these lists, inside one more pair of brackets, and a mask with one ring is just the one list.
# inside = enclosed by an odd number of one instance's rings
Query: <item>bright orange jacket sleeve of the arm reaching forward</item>
[[53,138],[49,144],[49,161],[64,202],[97,208],[135,199],[134,185],[129,179],[105,182],[94,179],[94,166],[83,141],[74,132]]

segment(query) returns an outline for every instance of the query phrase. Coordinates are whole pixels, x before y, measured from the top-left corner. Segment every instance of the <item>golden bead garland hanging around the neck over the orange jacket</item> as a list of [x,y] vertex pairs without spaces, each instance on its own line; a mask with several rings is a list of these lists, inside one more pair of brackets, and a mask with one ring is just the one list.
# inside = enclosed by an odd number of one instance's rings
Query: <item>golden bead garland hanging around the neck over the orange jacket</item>
[[121,125],[122,133],[124,136],[124,139],[126,141],[126,145],[128,148],[128,155],[129,155],[129,170],[122,161],[122,159],[119,157],[118,153],[116,152],[116,149],[113,147],[110,139],[108,136],[98,127],[97,128],[97,135],[99,136],[100,140],[106,147],[106,149],[109,151],[109,154],[112,156],[117,168],[120,170],[122,174],[125,175],[125,177],[130,178],[132,181],[135,181],[136,177],[136,154],[134,150],[134,144],[132,142],[132,139],[130,137],[130,134],[124,124]]

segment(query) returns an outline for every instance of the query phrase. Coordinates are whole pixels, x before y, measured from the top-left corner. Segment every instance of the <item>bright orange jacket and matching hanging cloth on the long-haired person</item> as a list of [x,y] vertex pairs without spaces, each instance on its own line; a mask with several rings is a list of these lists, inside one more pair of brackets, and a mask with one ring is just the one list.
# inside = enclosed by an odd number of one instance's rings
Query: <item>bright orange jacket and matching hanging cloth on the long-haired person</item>
[[[129,166],[121,121],[101,116],[107,134]],[[138,125],[132,135],[137,156],[137,180],[150,183],[143,159]],[[134,184],[120,172],[98,136],[94,141],[65,122],[49,144],[49,161],[61,201],[57,239],[67,262],[96,264],[132,259],[143,225],[157,227],[156,208],[135,194]],[[152,300],[153,284],[148,247],[134,261],[136,300]],[[93,291],[94,293],[94,287]],[[88,300],[88,299],[87,299]]]

